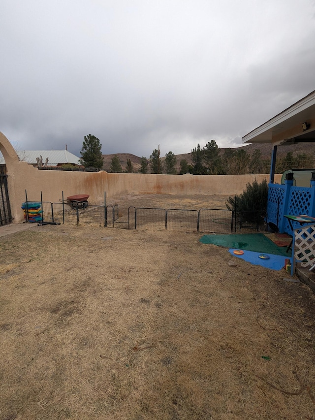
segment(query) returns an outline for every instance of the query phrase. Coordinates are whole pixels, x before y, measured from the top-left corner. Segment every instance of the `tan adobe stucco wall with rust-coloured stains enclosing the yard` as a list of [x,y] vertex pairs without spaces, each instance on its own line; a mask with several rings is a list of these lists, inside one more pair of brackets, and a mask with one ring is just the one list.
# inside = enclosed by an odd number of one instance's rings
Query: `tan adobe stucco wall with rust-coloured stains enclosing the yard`
[[[0,150],[8,171],[8,189],[14,223],[23,220],[21,204],[30,201],[59,202],[68,195],[90,194],[89,202],[100,204],[118,194],[241,194],[254,179],[269,180],[267,175],[157,175],[71,171],[39,171],[20,162],[8,139],[0,132]],[[275,176],[281,182],[281,174]]]

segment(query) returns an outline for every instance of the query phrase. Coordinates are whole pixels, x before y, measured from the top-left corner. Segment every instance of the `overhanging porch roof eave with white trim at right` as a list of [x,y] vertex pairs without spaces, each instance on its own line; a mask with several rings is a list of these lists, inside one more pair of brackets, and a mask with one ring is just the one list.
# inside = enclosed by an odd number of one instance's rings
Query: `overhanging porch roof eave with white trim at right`
[[[311,123],[311,120],[312,123]],[[310,127],[303,131],[302,123]],[[242,137],[243,143],[290,144],[315,141],[315,91]],[[310,124],[311,123],[311,124]]]

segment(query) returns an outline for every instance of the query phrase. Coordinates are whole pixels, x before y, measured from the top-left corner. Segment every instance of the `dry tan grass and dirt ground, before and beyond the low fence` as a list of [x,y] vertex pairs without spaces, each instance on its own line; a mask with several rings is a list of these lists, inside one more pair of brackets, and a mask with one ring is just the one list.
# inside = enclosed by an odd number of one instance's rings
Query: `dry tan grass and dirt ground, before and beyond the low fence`
[[314,294],[201,236],[47,225],[0,237],[0,420],[314,420]]

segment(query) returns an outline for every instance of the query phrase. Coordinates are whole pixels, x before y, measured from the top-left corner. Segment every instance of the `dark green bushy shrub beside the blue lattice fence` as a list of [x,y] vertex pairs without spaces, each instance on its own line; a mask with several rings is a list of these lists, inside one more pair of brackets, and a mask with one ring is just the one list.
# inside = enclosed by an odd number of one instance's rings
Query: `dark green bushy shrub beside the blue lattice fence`
[[261,216],[266,215],[268,202],[268,185],[264,179],[258,184],[255,179],[252,184],[246,184],[246,190],[242,194],[236,195],[235,197],[230,196],[225,205],[229,210],[235,210],[236,213],[240,214],[244,211],[254,210],[260,212]]

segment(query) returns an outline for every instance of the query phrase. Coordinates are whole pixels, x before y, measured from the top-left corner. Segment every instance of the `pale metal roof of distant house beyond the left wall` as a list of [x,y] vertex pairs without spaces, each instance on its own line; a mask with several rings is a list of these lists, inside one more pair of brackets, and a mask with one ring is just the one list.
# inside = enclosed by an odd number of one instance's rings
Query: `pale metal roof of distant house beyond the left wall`
[[[74,163],[81,165],[80,160],[73,153],[67,150],[19,150],[16,152],[20,161],[28,162],[30,164],[37,164],[36,158],[43,158],[45,163],[48,158],[48,166],[57,166],[64,163]],[[5,163],[4,158],[0,158],[0,164]]]

